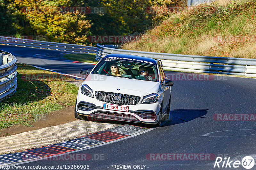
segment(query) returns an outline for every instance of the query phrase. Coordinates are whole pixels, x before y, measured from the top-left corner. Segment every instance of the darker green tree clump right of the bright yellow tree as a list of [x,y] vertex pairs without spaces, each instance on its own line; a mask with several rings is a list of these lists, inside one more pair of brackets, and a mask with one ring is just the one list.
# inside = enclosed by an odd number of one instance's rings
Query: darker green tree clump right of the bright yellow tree
[[103,6],[106,13],[88,16],[92,20],[94,35],[137,34],[156,25],[168,13],[159,13],[156,7],[175,5],[171,0],[101,0],[89,1],[89,6]]

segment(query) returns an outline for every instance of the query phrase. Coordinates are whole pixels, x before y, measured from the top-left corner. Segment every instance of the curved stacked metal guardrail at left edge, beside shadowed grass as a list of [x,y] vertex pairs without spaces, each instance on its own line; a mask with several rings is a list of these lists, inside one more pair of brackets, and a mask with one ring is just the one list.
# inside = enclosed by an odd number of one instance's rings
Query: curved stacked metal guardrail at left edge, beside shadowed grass
[[0,102],[16,92],[17,59],[11,53],[0,51]]

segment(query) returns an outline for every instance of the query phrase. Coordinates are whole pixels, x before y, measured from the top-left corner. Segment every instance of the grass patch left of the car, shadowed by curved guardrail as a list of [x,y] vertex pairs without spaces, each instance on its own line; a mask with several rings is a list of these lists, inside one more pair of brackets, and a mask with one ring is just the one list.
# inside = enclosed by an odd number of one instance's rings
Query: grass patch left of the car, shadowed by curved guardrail
[[75,105],[78,87],[64,81],[74,79],[24,64],[17,66],[17,91],[0,103],[0,129],[30,126],[43,114]]

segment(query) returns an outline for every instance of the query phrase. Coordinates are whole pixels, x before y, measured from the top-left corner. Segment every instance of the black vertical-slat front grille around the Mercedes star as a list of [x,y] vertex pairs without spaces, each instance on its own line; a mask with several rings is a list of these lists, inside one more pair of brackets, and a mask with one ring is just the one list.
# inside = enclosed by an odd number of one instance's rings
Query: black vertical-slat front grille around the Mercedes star
[[[120,103],[114,103],[112,98],[114,95],[120,95],[121,96],[121,102]],[[111,104],[121,104],[121,105],[135,105],[138,104],[140,101],[140,96],[132,96],[132,95],[126,95],[121,93],[112,93],[112,92],[105,92],[105,91],[95,91],[96,99],[111,103]]]

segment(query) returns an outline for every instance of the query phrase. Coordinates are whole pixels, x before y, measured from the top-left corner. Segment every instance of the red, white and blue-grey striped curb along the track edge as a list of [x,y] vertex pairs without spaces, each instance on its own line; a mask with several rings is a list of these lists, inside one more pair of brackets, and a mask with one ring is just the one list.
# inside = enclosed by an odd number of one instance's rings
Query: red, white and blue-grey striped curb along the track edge
[[116,126],[114,128],[110,128],[105,131],[92,133],[89,135],[81,136],[79,138],[74,138],[53,145],[48,145],[45,147],[9,154],[2,154],[0,155],[0,168],[1,166],[20,163],[23,161],[29,161],[33,159],[47,159],[47,157],[51,157],[53,155],[58,155],[66,152],[91,147],[98,144],[103,144],[109,141],[128,137],[146,130],[147,128],[125,124]]

